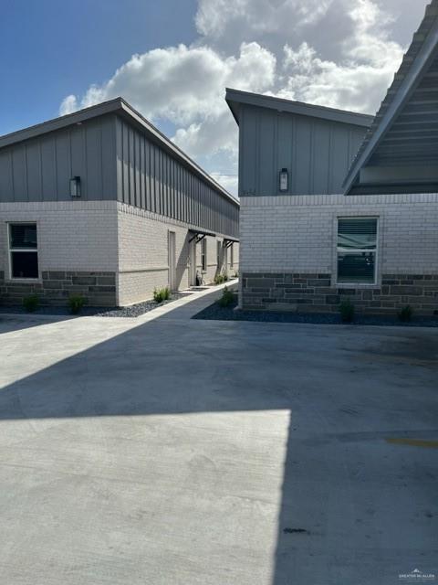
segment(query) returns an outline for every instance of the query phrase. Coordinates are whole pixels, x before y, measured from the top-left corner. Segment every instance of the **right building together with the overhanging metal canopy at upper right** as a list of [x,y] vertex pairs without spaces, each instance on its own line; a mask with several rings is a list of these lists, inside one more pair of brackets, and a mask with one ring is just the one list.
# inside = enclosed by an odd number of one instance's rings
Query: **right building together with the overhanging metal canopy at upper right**
[[438,311],[438,0],[372,119],[227,90],[244,309]]

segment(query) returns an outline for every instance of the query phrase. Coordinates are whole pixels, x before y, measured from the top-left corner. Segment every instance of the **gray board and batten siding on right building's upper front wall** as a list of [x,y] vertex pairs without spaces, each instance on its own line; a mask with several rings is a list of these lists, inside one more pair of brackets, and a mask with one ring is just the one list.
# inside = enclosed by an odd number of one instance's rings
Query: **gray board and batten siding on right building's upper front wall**
[[[239,120],[239,195],[316,195],[341,191],[366,128],[242,105]],[[279,172],[287,168],[287,193]]]

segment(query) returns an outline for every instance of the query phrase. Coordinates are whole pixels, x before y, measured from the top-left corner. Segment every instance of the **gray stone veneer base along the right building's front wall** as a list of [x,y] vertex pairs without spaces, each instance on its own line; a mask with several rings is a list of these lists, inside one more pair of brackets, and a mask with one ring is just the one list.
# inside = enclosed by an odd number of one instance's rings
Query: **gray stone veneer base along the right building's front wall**
[[332,286],[331,274],[244,272],[242,309],[337,313],[349,298],[358,313],[396,314],[411,305],[416,314],[437,314],[438,274],[383,274],[379,286]]

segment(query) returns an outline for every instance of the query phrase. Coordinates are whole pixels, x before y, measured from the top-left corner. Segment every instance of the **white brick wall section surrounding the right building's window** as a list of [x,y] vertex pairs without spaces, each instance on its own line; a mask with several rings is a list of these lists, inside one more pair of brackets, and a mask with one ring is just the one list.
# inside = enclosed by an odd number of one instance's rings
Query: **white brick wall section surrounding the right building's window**
[[378,274],[438,273],[438,194],[241,197],[242,272],[333,273],[339,216],[379,217]]

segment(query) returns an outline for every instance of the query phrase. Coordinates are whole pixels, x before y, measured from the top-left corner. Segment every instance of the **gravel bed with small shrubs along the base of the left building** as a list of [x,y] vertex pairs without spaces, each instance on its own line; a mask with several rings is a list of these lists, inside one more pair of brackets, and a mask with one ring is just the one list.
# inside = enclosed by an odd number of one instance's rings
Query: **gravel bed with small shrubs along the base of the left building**
[[[188,296],[192,293],[172,293],[169,301],[155,303],[155,301],[144,301],[143,303],[132,304],[130,307],[83,307],[78,316],[83,317],[140,317],[141,314],[149,313],[157,307],[164,304],[172,303],[178,299]],[[38,307],[33,313],[28,313],[24,307],[18,306],[0,306],[0,314],[47,314],[54,316],[71,316],[68,307],[42,306]]]

